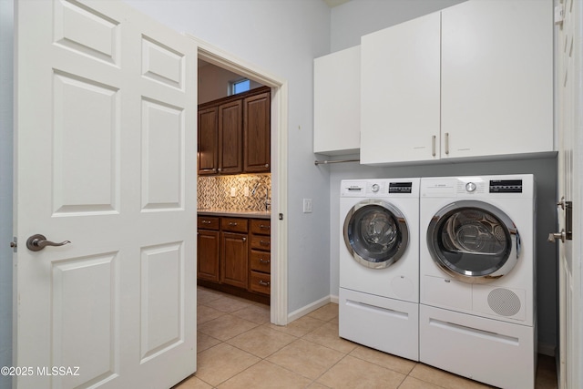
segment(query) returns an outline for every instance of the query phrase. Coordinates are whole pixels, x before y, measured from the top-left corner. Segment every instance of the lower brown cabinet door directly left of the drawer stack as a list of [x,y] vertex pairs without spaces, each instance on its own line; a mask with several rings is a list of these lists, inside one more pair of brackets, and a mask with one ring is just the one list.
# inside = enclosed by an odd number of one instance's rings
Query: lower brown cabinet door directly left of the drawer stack
[[247,234],[222,232],[220,245],[220,282],[247,289]]

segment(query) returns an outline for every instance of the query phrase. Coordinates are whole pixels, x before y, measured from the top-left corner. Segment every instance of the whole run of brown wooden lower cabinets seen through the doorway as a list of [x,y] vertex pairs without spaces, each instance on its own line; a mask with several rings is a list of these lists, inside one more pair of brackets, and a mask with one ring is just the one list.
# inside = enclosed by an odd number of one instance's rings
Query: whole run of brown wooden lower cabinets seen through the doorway
[[270,220],[198,217],[199,285],[269,304]]

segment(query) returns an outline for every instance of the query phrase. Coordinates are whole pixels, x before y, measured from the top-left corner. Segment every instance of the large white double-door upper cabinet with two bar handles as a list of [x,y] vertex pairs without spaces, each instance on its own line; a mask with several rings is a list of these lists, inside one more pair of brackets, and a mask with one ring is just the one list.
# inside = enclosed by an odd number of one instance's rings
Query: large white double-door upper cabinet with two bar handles
[[553,151],[551,0],[469,0],[363,36],[361,163]]

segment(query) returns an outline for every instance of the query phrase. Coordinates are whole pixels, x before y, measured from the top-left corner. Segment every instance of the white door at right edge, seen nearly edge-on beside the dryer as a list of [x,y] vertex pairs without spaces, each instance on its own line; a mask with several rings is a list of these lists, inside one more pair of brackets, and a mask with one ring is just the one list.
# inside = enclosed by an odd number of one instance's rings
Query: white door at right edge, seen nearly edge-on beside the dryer
[[[558,117],[558,197],[572,202],[572,240],[558,241],[559,293],[559,387],[579,388],[583,384],[580,364],[583,350],[581,329],[581,153],[583,96],[581,70],[583,51],[583,7],[577,0],[557,3],[564,10],[558,28],[557,117]],[[558,230],[568,232],[566,210],[558,208]],[[550,226],[549,226],[550,227]],[[550,232],[550,231],[549,231]]]

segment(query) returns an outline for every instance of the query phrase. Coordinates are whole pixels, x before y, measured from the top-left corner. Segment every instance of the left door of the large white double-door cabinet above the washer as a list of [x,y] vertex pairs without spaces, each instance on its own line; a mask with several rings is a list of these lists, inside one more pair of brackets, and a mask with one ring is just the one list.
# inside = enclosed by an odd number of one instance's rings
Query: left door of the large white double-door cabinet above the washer
[[361,39],[361,163],[439,158],[440,15]]

